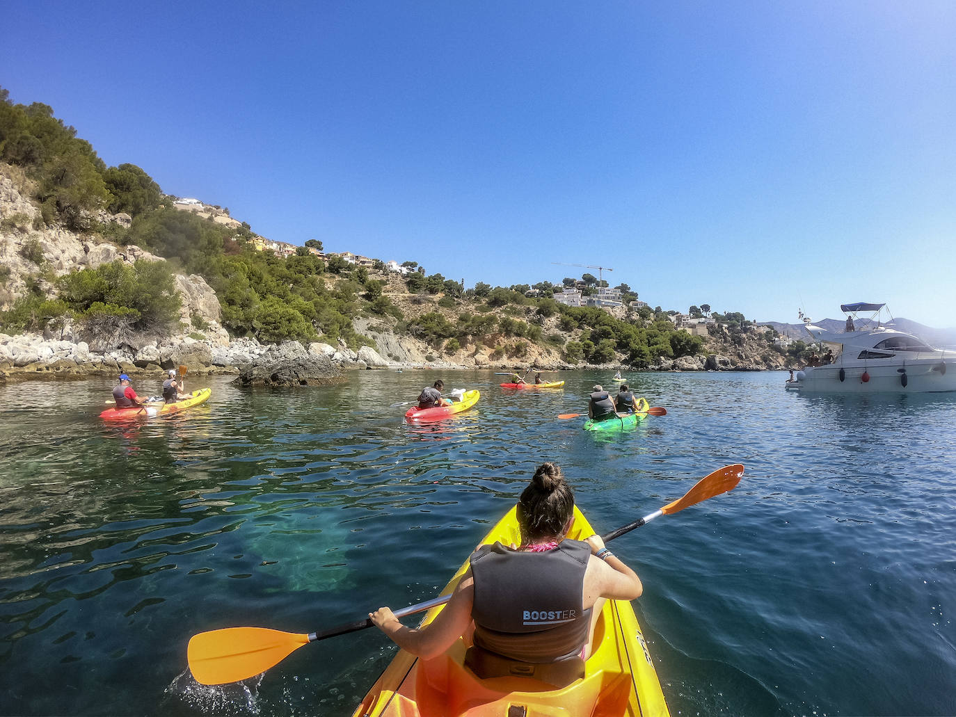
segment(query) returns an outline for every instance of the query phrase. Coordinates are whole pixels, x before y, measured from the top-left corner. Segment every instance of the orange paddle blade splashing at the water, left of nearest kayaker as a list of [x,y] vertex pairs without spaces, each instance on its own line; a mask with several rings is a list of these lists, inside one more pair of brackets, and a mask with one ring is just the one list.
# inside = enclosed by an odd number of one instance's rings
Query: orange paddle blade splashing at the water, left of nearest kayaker
[[308,635],[265,627],[228,627],[193,635],[186,656],[196,682],[237,683],[265,672],[308,643]]

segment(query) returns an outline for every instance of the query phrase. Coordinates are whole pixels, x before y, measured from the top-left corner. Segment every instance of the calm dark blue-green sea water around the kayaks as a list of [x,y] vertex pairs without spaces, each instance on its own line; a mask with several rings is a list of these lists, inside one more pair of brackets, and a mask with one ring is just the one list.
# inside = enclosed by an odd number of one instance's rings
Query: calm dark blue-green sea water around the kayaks
[[[446,373],[476,408],[413,427],[439,374],[357,372],[108,426],[105,380],[0,387],[0,713],[348,715],[394,648],[366,630],[200,687],[189,637],[310,632],[433,597],[532,470],[609,532],[711,470],[740,486],[616,541],[672,713],[956,713],[956,397],[811,398],[784,373],[640,374],[665,417],[596,436],[582,397]],[[199,383],[196,383],[198,387]],[[142,384],[141,393],[159,389]],[[154,392],[155,392],[154,390]]]

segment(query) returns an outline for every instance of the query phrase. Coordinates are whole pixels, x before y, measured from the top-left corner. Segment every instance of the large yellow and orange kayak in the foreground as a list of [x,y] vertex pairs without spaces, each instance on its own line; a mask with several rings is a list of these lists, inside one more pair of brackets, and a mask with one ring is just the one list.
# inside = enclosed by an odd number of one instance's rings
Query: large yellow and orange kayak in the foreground
[[[575,508],[568,537],[583,540],[595,531]],[[519,543],[514,509],[482,540]],[[465,575],[467,560],[445,586],[449,595]],[[444,605],[425,614],[423,624],[435,619]],[[354,717],[586,717],[588,715],[668,715],[661,683],[651,663],[647,644],[631,603],[608,600],[595,630],[591,657],[584,677],[554,688],[530,677],[481,679],[465,665],[467,644],[459,638],[445,654],[419,660],[400,650],[378,682],[362,700]]]

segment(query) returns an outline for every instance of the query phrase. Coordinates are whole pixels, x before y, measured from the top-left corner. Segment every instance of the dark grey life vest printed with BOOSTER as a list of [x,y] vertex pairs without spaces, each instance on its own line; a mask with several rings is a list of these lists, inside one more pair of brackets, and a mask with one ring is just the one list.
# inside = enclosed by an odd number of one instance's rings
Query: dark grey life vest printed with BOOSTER
[[576,655],[588,637],[591,611],[581,594],[590,555],[580,540],[562,540],[544,553],[481,546],[469,558],[474,643],[525,663]]

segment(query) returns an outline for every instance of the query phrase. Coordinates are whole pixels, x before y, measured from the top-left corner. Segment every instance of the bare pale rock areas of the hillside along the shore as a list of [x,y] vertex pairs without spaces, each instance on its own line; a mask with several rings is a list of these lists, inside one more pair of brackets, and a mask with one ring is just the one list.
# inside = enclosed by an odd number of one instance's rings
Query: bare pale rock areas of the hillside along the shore
[[[99,231],[78,232],[41,221],[40,207],[27,198],[29,185],[18,167],[0,163],[0,310],[9,309],[18,298],[31,291],[55,295],[56,279],[76,270],[96,269],[117,260],[127,264],[139,259],[164,261],[140,247],[118,246],[107,240],[107,236],[122,233],[112,231],[111,227],[129,226],[127,214],[100,211],[93,218]],[[382,295],[398,310],[392,315],[377,315],[368,311],[367,304],[359,302],[352,328],[356,335],[374,342],[374,349],[351,350],[339,339],[336,347],[315,343],[316,355],[334,354],[334,360],[351,367],[430,364],[570,369],[591,365],[569,363],[565,359],[566,347],[569,342],[580,340],[582,330],[562,328],[558,314],[542,316],[535,305],[513,303],[492,309],[473,296],[452,298],[441,292],[409,293],[399,274],[374,270],[368,274],[381,282]],[[320,280],[333,293],[352,281],[348,275],[334,273],[326,273]],[[127,337],[122,345],[91,349],[67,320],[60,322],[56,330],[48,328],[42,337],[0,335],[0,364],[6,365],[8,371],[30,372],[35,368],[41,373],[51,366],[54,373],[72,373],[71,366],[81,371],[92,369],[107,373],[117,368],[153,371],[182,361],[208,370],[237,370],[237,366],[250,365],[270,356],[268,345],[254,339],[230,341],[222,325],[220,301],[202,276],[175,273],[174,282],[175,291],[182,299],[179,333]],[[623,309],[617,312],[617,318],[624,317]],[[402,318],[397,318],[399,315]],[[482,316],[494,319],[491,324],[499,328],[480,337],[462,337],[460,342],[428,339],[421,336],[421,326],[417,326],[426,315],[440,315],[451,324],[461,315]],[[507,326],[510,320],[537,327],[538,337],[529,339],[502,331],[500,326]],[[295,351],[298,349],[293,353]],[[597,365],[613,367],[625,362],[622,354],[607,358],[608,361]],[[783,366],[783,356],[772,350],[763,332],[750,331],[706,337],[701,354],[676,360],[660,359],[651,368],[760,370]]]

